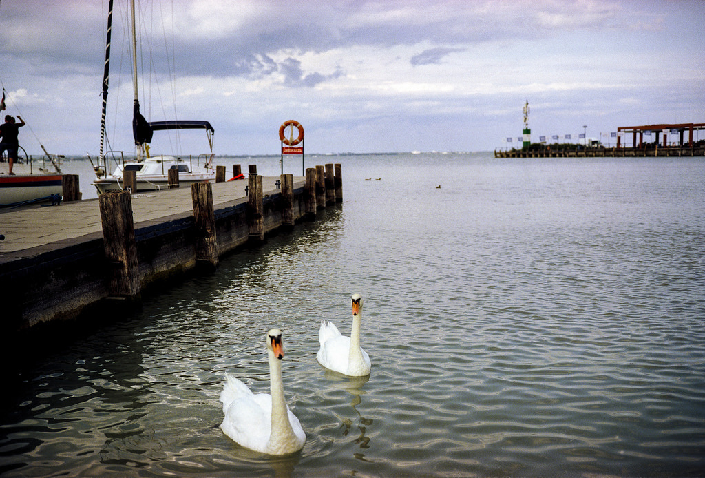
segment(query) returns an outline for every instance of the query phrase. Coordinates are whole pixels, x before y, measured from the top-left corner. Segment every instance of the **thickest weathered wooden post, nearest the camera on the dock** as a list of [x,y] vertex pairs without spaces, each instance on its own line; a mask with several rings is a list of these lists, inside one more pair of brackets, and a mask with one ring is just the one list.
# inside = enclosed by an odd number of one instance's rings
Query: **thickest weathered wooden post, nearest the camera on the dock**
[[[134,171],[133,171],[134,172]],[[109,264],[108,293],[140,302],[140,266],[137,264],[135,223],[128,191],[108,191],[99,197],[103,250]]]

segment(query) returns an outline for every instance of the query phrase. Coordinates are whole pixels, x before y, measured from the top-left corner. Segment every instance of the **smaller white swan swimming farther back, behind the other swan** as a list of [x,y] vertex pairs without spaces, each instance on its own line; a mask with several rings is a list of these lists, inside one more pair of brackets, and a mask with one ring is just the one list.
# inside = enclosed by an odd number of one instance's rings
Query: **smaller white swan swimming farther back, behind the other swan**
[[335,372],[348,376],[369,375],[372,363],[369,355],[360,347],[360,329],[362,327],[362,297],[353,294],[353,329],[350,337],[343,336],[338,328],[329,321],[321,321],[318,340],[321,348],[316,357],[318,362]]

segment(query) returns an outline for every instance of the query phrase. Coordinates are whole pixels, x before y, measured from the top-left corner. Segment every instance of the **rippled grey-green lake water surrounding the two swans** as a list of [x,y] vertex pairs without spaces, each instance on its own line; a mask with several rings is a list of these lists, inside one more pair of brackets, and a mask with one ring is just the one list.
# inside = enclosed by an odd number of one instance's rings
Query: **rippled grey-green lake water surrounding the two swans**
[[[343,164],[317,222],[5,364],[0,472],[705,474],[703,158],[310,161]],[[364,379],[316,361],[355,292]],[[269,391],[272,326],[307,434],[284,457],[219,429],[225,372]]]

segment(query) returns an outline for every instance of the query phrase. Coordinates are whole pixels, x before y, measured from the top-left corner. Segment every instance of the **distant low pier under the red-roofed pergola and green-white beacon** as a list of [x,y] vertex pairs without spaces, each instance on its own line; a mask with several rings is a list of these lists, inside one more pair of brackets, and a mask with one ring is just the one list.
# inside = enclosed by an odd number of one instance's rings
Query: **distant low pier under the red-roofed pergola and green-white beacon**
[[496,158],[636,158],[705,156],[705,145],[693,147],[583,147],[581,149],[496,149]]

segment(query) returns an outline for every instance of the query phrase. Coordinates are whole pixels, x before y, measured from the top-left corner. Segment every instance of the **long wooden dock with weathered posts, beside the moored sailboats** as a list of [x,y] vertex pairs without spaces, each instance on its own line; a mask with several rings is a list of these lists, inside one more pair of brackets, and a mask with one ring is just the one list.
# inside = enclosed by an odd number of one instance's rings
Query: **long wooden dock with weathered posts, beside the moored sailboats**
[[[219,256],[314,220],[319,209],[342,202],[339,164],[306,173],[250,174],[192,188],[118,191],[95,200],[1,211],[0,334],[134,306],[142,291],[204,266],[212,270]],[[109,224],[121,215],[109,209],[115,199],[128,205],[125,225]],[[133,288],[121,289],[121,281]]]

